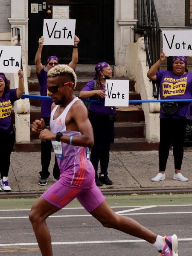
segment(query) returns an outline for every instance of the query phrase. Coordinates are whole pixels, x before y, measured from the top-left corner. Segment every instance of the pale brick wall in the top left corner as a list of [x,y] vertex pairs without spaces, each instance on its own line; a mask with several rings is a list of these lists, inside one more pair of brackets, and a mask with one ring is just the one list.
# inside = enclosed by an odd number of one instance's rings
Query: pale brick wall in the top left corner
[[0,0],[0,32],[10,32],[11,0]]

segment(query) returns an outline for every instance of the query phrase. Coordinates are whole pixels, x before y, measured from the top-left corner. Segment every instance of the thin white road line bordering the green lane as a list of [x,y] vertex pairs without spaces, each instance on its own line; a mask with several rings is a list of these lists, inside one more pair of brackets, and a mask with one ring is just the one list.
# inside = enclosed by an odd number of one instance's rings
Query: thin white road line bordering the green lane
[[[145,207],[146,205],[136,205],[136,206],[111,206],[111,208],[137,208]],[[172,205],[156,205],[156,207],[180,207],[180,206],[192,206],[192,204],[172,204]],[[75,209],[84,209],[84,207],[64,207],[61,210],[75,210]],[[0,209],[0,212],[14,212],[14,211],[30,211],[30,209]]]

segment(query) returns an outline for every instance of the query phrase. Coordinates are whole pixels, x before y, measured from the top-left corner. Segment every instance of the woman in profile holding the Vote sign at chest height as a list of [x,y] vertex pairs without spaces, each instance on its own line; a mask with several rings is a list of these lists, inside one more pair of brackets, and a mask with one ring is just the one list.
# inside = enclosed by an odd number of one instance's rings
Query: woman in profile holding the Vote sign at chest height
[[[89,81],[79,93],[82,99],[90,98],[103,104],[91,104],[89,119],[93,127],[95,143],[91,150],[90,161],[95,169],[95,181],[97,186],[103,184],[112,185],[108,178],[109,151],[114,137],[115,107],[105,107],[106,79],[113,76],[113,70],[106,62],[100,62],[95,67],[96,76]],[[98,164],[100,161],[101,173],[98,177]]]

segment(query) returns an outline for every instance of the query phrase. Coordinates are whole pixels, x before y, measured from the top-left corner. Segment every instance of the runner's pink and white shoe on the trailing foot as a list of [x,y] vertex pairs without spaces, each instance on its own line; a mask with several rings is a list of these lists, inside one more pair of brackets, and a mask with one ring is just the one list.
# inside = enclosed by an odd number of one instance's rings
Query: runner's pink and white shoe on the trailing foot
[[173,236],[164,236],[166,242],[163,250],[159,250],[159,256],[178,256],[178,239],[174,234]]

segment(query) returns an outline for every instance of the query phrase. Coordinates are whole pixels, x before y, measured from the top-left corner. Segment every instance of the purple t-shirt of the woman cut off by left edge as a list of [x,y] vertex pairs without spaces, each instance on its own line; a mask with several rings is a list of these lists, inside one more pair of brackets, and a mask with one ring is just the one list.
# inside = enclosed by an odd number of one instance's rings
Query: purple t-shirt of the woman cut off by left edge
[[12,103],[17,100],[17,89],[10,89],[0,97],[0,129],[8,130],[12,125]]

